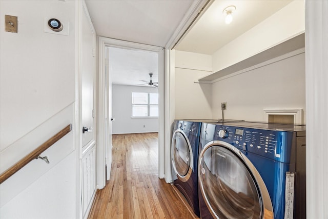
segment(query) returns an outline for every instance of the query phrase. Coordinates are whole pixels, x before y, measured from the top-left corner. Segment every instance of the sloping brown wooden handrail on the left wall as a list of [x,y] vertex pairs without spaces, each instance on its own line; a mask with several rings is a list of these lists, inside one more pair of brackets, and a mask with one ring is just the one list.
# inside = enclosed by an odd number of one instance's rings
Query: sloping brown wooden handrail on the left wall
[[22,169],[25,165],[33,161],[38,155],[40,155],[42,152],[47,150],[50,146],[55,144],[60,138],[64,137],[67,133],[69,133],[72,130],[72,124],[69,124],[64,129],[59,131],[57,134],[52,136],[47,142],[43,143],[39,147],[37,147],[35,150],[33,150],[31,153],[23,157],[20,161],[18,161],[16,164],[14,164],[12,167],[10,167],[8,170],[3,172],[0,175],[0,184],[2,184],[4,181],[6,181],[10,176],[12,176],[15,172]]

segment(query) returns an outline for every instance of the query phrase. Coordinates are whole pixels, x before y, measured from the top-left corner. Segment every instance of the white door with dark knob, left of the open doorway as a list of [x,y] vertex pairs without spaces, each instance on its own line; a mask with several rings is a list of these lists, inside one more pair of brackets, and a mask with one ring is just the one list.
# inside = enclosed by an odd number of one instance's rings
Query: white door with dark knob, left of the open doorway
[[81,215],[87,218],[96,192],[96,142],[94,132],[95,31],[85,4],[80,13],[81,106]]

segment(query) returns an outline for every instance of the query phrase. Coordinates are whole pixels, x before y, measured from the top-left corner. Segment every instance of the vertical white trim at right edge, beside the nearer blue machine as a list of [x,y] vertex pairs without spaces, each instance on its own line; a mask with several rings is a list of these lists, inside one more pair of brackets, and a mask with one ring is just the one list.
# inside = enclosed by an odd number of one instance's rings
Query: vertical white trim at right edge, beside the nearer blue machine
[[305,1],[306,216],[328,218],[328,1]]

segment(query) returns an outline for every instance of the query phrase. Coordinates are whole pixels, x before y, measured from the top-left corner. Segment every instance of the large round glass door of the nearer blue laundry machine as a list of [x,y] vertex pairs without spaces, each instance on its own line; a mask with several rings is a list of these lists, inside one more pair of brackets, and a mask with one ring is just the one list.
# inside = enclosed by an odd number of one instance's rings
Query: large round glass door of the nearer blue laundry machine
[[273,218],[267,187],[248,158],[222,141],[199,156],[201,194],[214,218]]

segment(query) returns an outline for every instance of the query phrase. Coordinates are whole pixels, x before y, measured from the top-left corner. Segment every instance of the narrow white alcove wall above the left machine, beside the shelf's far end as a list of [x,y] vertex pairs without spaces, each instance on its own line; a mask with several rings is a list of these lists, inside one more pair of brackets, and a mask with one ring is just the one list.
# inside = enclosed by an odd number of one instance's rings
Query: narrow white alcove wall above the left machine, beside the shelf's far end
[[212,118],[211,85],[195,83],[212,72],[212,57],[178,50],[175,57],[175,118]]

